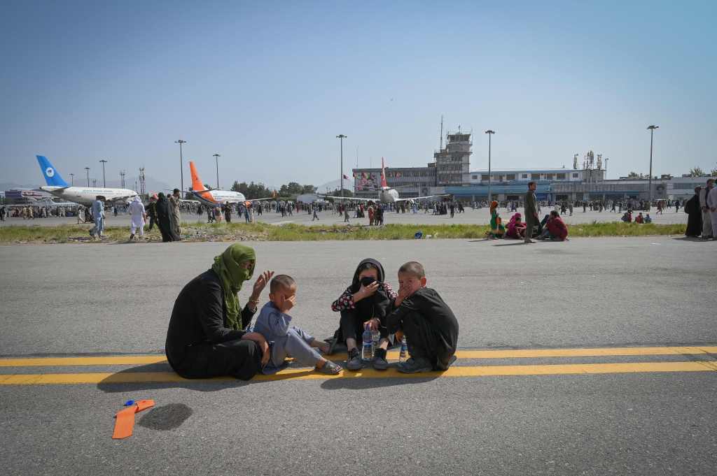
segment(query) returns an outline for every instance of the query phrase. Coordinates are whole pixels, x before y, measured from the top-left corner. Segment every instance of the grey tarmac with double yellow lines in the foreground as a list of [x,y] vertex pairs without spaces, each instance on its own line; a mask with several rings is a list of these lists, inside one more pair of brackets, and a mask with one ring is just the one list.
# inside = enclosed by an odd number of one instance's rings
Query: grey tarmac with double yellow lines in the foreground
[[[361,258],[395,288],[421,261],[460,321],[457,362],[186,381],[168,316],[226,243],[0,246],[4,474],[714,474],[714,242],[250,244],[257,276],[297,280],[294,324],[318,338]],[[128,399],[156,407],[111,439]]]

